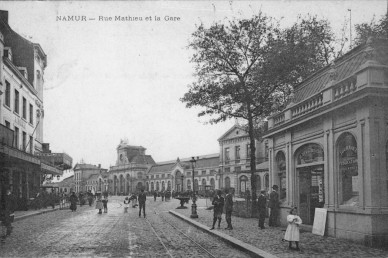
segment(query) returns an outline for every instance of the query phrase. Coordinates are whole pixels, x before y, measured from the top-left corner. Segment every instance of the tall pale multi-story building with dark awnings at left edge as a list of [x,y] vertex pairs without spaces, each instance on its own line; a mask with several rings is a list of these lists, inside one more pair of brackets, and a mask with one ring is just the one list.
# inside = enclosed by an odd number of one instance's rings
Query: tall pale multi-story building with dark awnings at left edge
[[[26,200],[42,182],[71,167],[68,155],[56,163],[43,138],[43,83],[47,57],[42,47],[12,30],[0,11],[0,192],[11,188]],[[19,202],[20,203],[20,202]]]

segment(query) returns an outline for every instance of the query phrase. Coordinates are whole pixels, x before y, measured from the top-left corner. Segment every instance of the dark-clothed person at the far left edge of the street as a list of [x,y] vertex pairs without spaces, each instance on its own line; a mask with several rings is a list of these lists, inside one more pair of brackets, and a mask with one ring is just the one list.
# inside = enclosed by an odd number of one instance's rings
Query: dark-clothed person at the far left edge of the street
[[6,228],[6,232],[1,236],[1,242],[4,243],[7,236],[12,233],[12,222],[15,217],[15,204],[16,198],[12,194],[11,189],[7,189],[3,202],[1,203],[2,213],[2,226]]

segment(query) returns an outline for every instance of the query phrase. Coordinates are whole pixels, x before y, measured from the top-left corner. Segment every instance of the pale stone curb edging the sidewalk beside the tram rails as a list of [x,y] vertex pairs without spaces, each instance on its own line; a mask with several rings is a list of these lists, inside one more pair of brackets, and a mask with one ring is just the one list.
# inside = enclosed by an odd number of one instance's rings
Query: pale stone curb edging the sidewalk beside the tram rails
[[194,221],[190,218],[187,218],[186,216],[182,215],[182,214],[179,214],[175,211],[172,211],[172,210],[169,210],[168,211],[169,213],[171,213],[172,215],[182,219],[182,220],[185,220],[186,222],[196,226],[197,228],[209,233],[209,234],[212,234],[218,238],[220,238],[221,240],[225,241],[226,243],[228,244],[231,244],[237,248],[239,248],[240,250],[248,253],[250,256],[252,257],[262,257],[262,258],[277,258],[277,256],[273,255],[273,254],[270,254],[270,253],[267,253],[255,246],[252,246],[252,245],[249,245],[247,243],[244,243],[243,241],[241,240],[238,240],[234,237],[231,237],[227,234],[224,234],[224,233],[221,233],[219,231],[216,231],[216,230],[209,230],[208,227],[204,226],[203,224],[197,222],[197,221]]

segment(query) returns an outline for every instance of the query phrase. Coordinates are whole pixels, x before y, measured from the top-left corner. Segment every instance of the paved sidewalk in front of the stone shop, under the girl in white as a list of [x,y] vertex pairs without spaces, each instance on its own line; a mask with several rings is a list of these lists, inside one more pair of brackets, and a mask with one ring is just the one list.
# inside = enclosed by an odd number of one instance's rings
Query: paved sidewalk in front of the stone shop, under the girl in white
[[[197,204],[198,219],[193,220],[202,224],[204,230],[209,233],[219,232],[221,233],[219,237],[226,235],[251,245],[263,251],[263,255],[257,254],[259,257],[266,257],[265,253],[277,257],[388,257],[388,250],[369,248],[344,239],[317,236],[304,230],[301,230],[300,234],[301,251],[289,250],[288,242],[282,242],[286,228],[268,228],[268,223],[265,223],[266,229],[261,230],[255,218],[232,217],[234,229],[225,230],[226,221],[223,214],[221,229],[210,231],[213,211],[205,209],[210,205],[209,201],[206,204],[204,199],[199,199]],[[173,212],[182,214],[181,217],[191,223],[191,202],[187,206],[188,209],[173,209]]]

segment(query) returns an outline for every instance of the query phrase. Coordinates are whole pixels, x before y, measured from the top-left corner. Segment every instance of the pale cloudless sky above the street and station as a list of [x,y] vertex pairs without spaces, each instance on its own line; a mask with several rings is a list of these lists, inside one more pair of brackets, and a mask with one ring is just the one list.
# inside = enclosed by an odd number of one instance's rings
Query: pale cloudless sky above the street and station
[[[195,81],[187,45],[199,23],[262,10],[288,26],[310,13],[327,18],[339,33],[350,14],[352,25],[380,18],[387,1],[0,0],[0,9],[9,11],[16,32],[47,54],[44,142],[52,152],[68,153],[73,165],[83,160],[109,168],[121,139],[145,147],[156,162],[219,152],[217,139],[235,121],[207,124],[197,116],[200,108],[187,109],[179,100]],[[69,15],[86,21],[57,18]]]

